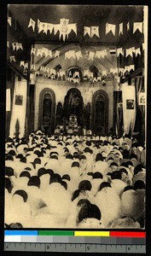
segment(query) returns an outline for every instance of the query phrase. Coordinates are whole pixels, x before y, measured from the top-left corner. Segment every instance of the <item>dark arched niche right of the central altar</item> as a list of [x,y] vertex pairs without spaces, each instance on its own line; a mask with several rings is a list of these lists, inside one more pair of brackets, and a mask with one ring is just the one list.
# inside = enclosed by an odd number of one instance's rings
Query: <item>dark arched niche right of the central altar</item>
[[97,90],[93,96],[91,127],[96,135],[107,135],[108,96],[104,90]]

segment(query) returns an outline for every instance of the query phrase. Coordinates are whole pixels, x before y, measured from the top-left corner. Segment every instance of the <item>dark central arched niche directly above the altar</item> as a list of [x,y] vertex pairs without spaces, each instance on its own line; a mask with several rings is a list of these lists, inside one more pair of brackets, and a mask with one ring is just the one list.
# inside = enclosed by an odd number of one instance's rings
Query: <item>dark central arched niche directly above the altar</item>
[[78,126],[83,126],[83,108],[84,102],[81,92],[77,88],[72,88],[67,91],[64,101],[64,117],[68,121],[70,115],[77,116]]

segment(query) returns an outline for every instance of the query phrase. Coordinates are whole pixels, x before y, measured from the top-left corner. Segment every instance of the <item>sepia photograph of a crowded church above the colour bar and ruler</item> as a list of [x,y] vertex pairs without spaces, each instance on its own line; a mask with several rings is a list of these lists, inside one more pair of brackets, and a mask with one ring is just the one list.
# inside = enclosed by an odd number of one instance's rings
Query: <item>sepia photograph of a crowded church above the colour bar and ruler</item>
[[4,227],[146,227],[148,7],[9,4]]

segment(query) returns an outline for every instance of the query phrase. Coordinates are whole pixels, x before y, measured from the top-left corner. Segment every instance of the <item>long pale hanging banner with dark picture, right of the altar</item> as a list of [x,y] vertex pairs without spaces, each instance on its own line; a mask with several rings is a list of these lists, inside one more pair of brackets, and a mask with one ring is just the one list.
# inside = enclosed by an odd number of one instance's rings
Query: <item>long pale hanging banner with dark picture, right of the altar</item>
[[124,132],[131,134],[136,121],[136,89],[134,85],[122,84]]

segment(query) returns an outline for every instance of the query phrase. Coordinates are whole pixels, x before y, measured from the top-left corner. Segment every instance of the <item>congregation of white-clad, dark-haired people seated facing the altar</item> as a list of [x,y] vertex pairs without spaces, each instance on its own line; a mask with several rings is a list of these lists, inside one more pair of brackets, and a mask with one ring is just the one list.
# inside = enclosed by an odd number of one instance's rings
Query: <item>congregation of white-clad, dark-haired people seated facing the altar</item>
[[5,227],[143,229],[145,145],[135,137],[10,138]]

